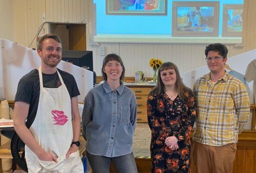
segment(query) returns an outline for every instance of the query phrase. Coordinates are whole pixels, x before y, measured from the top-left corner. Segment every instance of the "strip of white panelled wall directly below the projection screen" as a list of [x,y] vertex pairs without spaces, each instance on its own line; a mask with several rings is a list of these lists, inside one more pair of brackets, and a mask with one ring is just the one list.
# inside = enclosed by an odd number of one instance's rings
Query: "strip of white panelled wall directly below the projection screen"
[[[125,76],[134,76],[135,71],[142,70],[146,77],[153,77],[149,67],[151,58],[160,58],[164,62],[171,61],[179,68],[180,73],[206,65],[204,50],[206,44],[101,44],[105,46],[105,54],[117,53],[126,67]],[[228,57],[245,52],[245,48],[226,45]],[[101,75],[100,46],[90,46],[93,51],[94,69]]]

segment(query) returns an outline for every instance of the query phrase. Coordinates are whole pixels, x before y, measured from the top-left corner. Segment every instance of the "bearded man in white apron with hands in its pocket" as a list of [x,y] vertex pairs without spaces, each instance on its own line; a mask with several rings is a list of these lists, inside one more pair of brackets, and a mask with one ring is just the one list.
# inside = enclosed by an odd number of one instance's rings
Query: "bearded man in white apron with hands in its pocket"
[[[62,59],[59,36],[42,36],[37,52],[41,66],[20,79],[14,105],[14,128],[26,144],[28,172],[83,172],[80,92],[75,78],[57,69]],[[33,122],[31,127],[26,120]]]

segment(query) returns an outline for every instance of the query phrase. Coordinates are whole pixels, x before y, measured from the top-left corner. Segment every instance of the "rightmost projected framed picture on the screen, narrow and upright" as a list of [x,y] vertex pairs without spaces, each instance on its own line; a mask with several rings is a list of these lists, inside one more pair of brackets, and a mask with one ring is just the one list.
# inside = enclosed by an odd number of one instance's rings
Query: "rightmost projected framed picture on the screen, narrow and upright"
[[224,4],[222,20],[222,36],[242,36],[243,30],[243,5]]

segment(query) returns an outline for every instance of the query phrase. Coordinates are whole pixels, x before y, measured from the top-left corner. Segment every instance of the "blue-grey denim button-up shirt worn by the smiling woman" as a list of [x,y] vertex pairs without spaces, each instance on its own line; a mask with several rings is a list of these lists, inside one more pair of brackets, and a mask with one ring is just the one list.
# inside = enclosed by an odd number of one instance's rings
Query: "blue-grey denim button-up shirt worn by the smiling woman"
[[106,81],[91,89],[82,113],[86,150],[106,157],[131,153],[136,117],[135,94],[123,83],[115,90]]

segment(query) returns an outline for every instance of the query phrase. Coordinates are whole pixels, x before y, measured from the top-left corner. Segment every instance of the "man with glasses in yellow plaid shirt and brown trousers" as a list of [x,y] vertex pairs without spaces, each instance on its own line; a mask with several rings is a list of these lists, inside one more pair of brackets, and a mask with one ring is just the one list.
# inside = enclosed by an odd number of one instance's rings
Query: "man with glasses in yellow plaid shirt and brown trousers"
[[232,172],[238,134],[249,118],[245,84],[225,71],[228,49],[206,46],[210,73],[197,79],[197,128],[193,134],[193,158],[197,172]]

